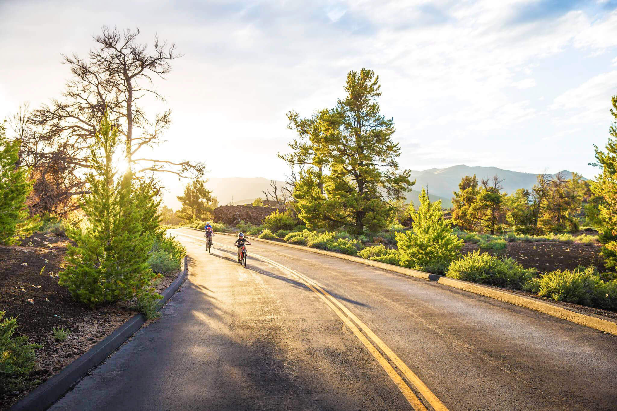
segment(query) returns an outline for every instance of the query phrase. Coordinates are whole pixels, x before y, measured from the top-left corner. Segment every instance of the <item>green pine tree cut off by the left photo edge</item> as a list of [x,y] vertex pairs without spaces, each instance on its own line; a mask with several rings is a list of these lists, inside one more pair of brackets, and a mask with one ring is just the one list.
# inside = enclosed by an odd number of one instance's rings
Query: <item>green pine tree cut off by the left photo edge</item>
[[26,237],[35,229],[30,219],[26,198],[32,190],[28,169],[20,167],[20,140],[9,141],[6,128],[0,124],[0,243],[12,244],[15,237]]

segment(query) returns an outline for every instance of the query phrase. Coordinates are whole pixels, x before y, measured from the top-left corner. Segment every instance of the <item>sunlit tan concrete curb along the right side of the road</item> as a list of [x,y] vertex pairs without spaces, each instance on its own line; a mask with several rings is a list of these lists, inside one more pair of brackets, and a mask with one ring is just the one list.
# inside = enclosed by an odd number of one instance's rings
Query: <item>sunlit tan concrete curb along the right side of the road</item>
[[[234,234],[222,232],[217,232],[216,234],[230,235],[232,237],[236,237],[236,235]],[[399,274],[409,275],[410,277],[415,277],[416,279],[436,281],[440,284],[447,285],[448,287],[458,288],[459,290],[469,291],[470,293],[498,299],[499,301],[504,301],[505,303],[526,307],[535,311],[542,312],[544,314],[552,315],[553,317],[558,317],[560,319],[568,320],[579,325],[584,325],[586,327],[595,328],[596,330],[617,335],[617,321],[608,317],[602,317],[602,315],[581,314],[580,312],[572,311],[570,309],[558,306],[557,304],[540,301],[536,298],[510,293],[509,291],[497,290],[495,288],[486,287],[486,285],[451,279],[450,277],[445,277],[444,275],[429,274],[428,272],[393,266],[392,264],[386,264],[384,262],[371,261],[365,258],[348,256],[347,254],[341,253],[334,253],[333,251],[319,250],[318,248],[311,248],[303,245],[282,243],[278,241],[265,240],[264,238],[251,237],[251,240],[253,239],[265,243],[282,245],[289,248],[297,248],[298,250],[309,251],[310,253],[323,254],[326,256],[346,259],[348,261],[357,262],[358,264],[364,264],[365,266],[372,266],[387,271],[398,272]]]

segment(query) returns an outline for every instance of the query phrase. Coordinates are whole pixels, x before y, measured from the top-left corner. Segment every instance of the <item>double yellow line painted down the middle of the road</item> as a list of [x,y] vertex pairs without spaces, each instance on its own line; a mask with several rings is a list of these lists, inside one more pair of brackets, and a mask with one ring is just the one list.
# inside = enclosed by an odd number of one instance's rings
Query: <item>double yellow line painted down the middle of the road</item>
[[[203,238],[194,237],[193,235],[188,235],[188,234],[180,234],[180,235],[183,235],[184,237],[192,237],[192,238],[196,238],[197,240],[204,241]],[[234,250],[234,248],[231,246],[226,246],[226,245],[220,245],[220,246],[224,248],[228,248],[230,250]],[[366,336],[364,336],[362,332],[360,332],[360,330],[358,329],[358,327],[356,327],[356,325],[352,322],[352,320],[360,328],[362,328],[363,332],[365,332],[366,335],[368,335],[368,337],[371,340],[373,340],[373,342],[381,349],[381,351],[383,351],[392,360],[392,362],[396,365],[396,367],[399,368],[399,370],[403,373],[403,375],[405,375],[407,380],[410,381],[410,383],[412,383],[412,385],[426,399],[426,401],[428,401],[429,404],[431,404],[431,407],[433,407],[433,409],[435,409],[436,411],[448,411],[447,407],[445,407],[445,405],[435,396],[435,394],[433,394],[433,392],[426,385],[424,385],[424,383],[420,380],[420,378],[418,378],[418,376],[412,372],[412,370],[407,366],[407,364],[405,364],[405,362],[403,362],[403,360],[401,360],[399,356],[394,354],[394,351],[392,351],[392,349],[390,349],[386,345],[386,343],[384,343],[381,340],[381,338],[379,338],[373,332],[373,330],[371,330],[368,327],[368,325],[364,324],[362,320],[358,319],[358,317],[354,315],[354,313],[349,311],[349,309],[347,309],[346,306],[344,306],[336,298],[330,295],[328,291],[323,290],[323,288],[321,288],[318,283],[309,279],[309,277],[306,277],[304,274],[300,274],[299,272],[287,266],[284,266],[283,264],[280,264],[279,262],[273,261],[269,258],[265,258],[263,256],[260,256],[254,253],[251,253],[251,255],[255,256],[256,258],[262,259],[263,261],[268,262],[272,264],[273,266],[282,269],[283,271],[289,272],[289,274],[292,274],[294,277],[297,277],[297,279],[300,280],[300,282],[304,283],[304,285],[306,285],[310,290],[315,292],[330,307],[330,309],[332,309],[332,311],[334,311],[334,313],[336,313],[341,318],[341,320],[347,325],[347,327],[349,327],[350,330],[352,330],[354,335],[358,338],[358,340],[360,340],[364,344],[366,349],[368,349],[368,351],[373,355],[373,357],[375,357],[379,365],[381,365],[381,367],[384,368],[387,375],[391,378],[391,380],[395,383],[395,385],[400,389],[401,393],[405,396],[405,398],[410,403],[410,405],[412,405],[413,409],[418,410],[418,411],[424,411],[426,410],[426,407],[424,407],[420,399],[418,399],[418,397],[413,393],[412,389],[405,383],[405,381],[400,377],[400,375],[394,370],[392,365],[381,355],[381,352],[379,352],[375,348],[375,346],[373,346],[373,344],[371,344],[371,342],[366,338]],[[337,307],[339,307],[340,310]],[[347,314],[347,316],[345,314]]]

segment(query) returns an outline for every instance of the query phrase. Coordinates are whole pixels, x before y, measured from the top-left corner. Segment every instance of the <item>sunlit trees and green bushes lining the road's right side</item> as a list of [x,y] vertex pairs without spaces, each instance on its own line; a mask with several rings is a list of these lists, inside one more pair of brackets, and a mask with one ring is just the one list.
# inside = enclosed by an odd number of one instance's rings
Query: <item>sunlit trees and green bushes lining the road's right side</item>
[[[346,91],[349,96],[339,100],[332,110],[318,110],[310,118],[301,118],[296,112],[288,114],[289,128],[297,132],[298,138],[289,144],[291,153],[280,155],[291,167],[288,184],[294,188],[292,196],[284,201],[275,198],[286,206],[285,211],[276,209],[261,224],[214,224],[216,231],[241,231],[259,238],[527,291],[555,301],[615,310],[617,282],[615,274],[609,271],[615,266],[613,258],[617,255],[617,210],[611,208],[617,201],[606,200],[617,192],[617,144],[613,139],[609,140],[606,153],[597,149],[597,165],[602,169],[597,181],[585,181],[576,173],[570,178],[563,174],[540,174],[531,190],[521,189],[508,195],[502,192],[499,176],[480,182],[476,176],[466,176],[458,192],[453,193],[453,209],[449,213],[441,209],[440,201],[431,203],[424,189],[416,210],[413,204],[400,201],[399,189],[413,184],[406,179],[405,170],[392,174],[395,183],[383,192],[365,190],[381,184],[379,177],[366,177],[379,174],[379,166],[371,155],[393,166],[399,155],[397,145],[389,140],[393,124],[378,115],[378,77],[370,71],[352,71]],[[366,113],[371,113],[373,120],[383,120],[375,123],[376,129],[381,130],[379,136],[373,134],[375,130],[340,132],[348,129],[347,116],[353,116],[347,111],[348,105],[352,99],[360,99],[360,95],[363,102],[355,104],[366,104]],[[614,107],[615,104],[613,98]],[[615,126],[611,136],[617,137]],[[347,160],[339,157],[345,152],[342,147],[362,152],[356,150],[355,144],[370,138],[382,139],[384,146],[375,150],[377,154],[354,158],[356,154],[349,153],[351,157]],[[351,178],[346,173],[356,171],[344,166],[343,161],[365,161],[373,171],[357,174],[358,179]],[[395,172],[397,167],[392,170]],[[262,204],[255,201],[255,205]],[[341,208],[343,204],[347,206]],[[203,229],[204,222],[191,226]],[[526,261],[525,253],[507,254],[514,245],[536,253],[537,245],[547,244],[562,246],[559,258],[571,253],[568,247],[574,246],[579,253],[589,250],[587,254],[593,256],[601,244],[605,264],[602,260],[594,261],[600,262],[603,272],[593,266],[573,265],[574,260],[569,267],[555,266],[539,272],[534,262]],[[463,248],[471,251],[463,253]],[[553,252],[557,251],[551,251],[546,258],[553,258]]]

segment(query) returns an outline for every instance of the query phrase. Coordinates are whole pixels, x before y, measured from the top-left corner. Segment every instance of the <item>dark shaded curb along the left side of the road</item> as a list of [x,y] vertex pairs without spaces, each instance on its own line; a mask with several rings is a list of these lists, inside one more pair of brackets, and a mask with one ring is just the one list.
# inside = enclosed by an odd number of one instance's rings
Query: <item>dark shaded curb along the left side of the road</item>
[[[184,256],[184,269],[178,274],[178,278],[163,292],[163,298],[159,300],[160,306],[178,291],[186,278],[187,260]],[[160,309],[160,308],[159,308]],[[82,354],[78,359],[67,365],[60,373],[52,376],[49,380],[36,387],[30,394],[23,397],[10,407],[10,411],[46,410],[60,397],[64,396],[73,385],[77,384],[88,372],[101,364],[112,352],[128,340],[146,322],[143,314],[136,314],[124,324],[120,325],[107,338],[97,343],[93,348]]]

